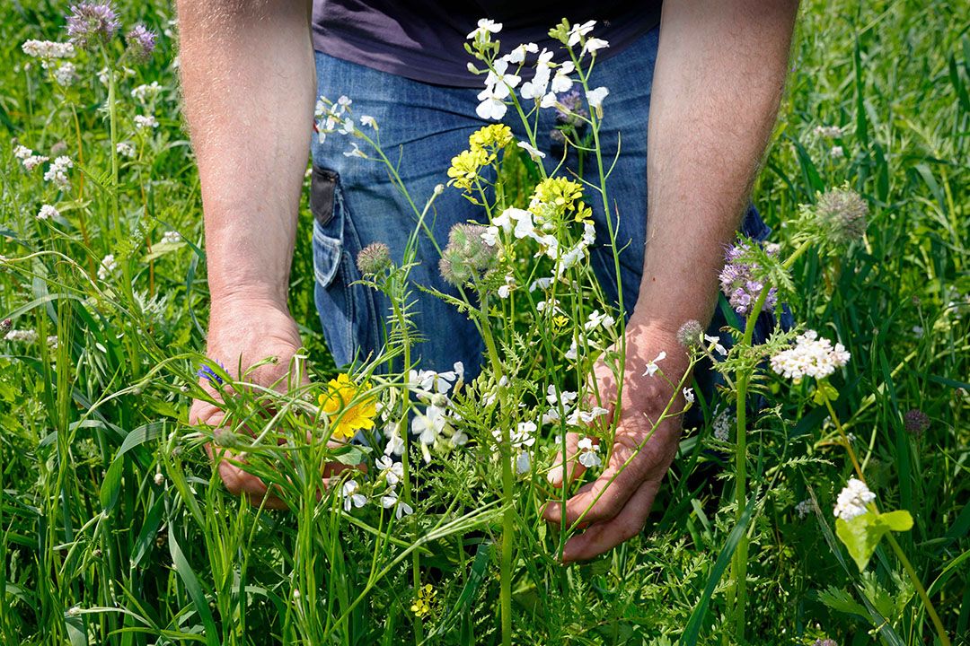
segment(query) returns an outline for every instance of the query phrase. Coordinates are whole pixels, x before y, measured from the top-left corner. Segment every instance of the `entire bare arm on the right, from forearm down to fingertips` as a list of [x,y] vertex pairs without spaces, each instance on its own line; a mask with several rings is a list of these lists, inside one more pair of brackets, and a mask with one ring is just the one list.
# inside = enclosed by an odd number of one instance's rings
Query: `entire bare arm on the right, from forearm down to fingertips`
[[[674,395],[666,380],[677,384],[687,369],[677,330],[689,320],[711,318],[724,249],[737,231],[774,125],[796,10],[796,0],[663,3],[647,151],[647,242],[627,326],[622,395],[614,412],[619,421],[602,476],[566,503],[567,523],[583,514],[589,523],[566,543],[566,561],[592,558],[639,533],[676,453],[679,418],[653,428]],[[642,377],[662,351],[666,379]],[[596,372],[600,393],[615,400],[611,371],[600,363]],[[683,408],[682,395],[677,397],[673,412]],[[554,484],[561,485],[558,472]],[[554,523],[561,513],[559,504],[545,510]]]

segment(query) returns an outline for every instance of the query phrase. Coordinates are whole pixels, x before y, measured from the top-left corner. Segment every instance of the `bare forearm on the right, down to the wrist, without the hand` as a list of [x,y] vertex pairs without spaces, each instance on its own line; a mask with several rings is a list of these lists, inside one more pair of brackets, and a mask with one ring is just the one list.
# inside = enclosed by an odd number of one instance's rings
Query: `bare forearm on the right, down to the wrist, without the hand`
[[648,223],[631,324],[710,320],[788,68],[796,0],[668,0],[651,97]]

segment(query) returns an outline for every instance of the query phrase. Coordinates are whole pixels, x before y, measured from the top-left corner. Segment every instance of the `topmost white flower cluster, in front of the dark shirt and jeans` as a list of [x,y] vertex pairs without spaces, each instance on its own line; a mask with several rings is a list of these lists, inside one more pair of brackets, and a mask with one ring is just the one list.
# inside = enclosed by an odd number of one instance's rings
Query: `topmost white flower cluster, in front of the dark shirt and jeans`
[[[609,46],[609,43],[602,39],[586,38],[587,34],[593,31],[595,25],[596,20],[589,20],[582,24],[573,25],[569,29],[568,46],[574,47],[582,45],[579,52],[580,60],[587,54],[596,56],[596,52],[599,49]],[[501,22],[482,18],[478,21],[478,27],[468,35],[468,38],[470,41],[481,45],[490,43],[492,34],[498,34],[500,31]],[[576,71],[574,63],[572,61],[556,63],[552,60],[553,52],[545,47],[539,51],[538,46],[534,43],[524,43],[515,46],[510,52],[492,62],[492,69],[489,70],[488,75],[485,77],[485,89],[478,94],[478,101],[480,103],[475,108],[475,113],[479,117],[498,121],[505,116],[505,112],[508,109],[508,104],[505,103],[505,100],[508,99],[512,90],[519,87],[519,83],[522,81],[519,73],[526,63],[527,54],[536,55],[535,70],[532,80],[527,80],[522,83],[522,86],[519,88],[521,97],[527,101],[537,103],[539,108],[567,109],[559,102],[556,95],[568,92],[572,88],[574,81],[569,75]],[[514,73],[510,72],[509,66],[515,66]],[[480,74],[470,63],[469,71],[473,74]],[[608,94],[609,90],[605,87],[598,87],[586,93],[586,100],[600,116],[602,114],[603,99]],[[519,145],[529,152],[533,161],[538,161],[539,158],[545,156],[528,143],[520,143]]]

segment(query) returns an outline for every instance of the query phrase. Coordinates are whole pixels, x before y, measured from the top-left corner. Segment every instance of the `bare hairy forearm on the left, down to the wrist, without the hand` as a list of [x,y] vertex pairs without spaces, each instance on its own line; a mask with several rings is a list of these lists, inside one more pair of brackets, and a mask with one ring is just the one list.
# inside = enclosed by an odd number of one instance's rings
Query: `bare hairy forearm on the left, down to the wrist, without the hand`
[[285,308],[313,113],[307,3],[178,0],[178,22],[213,308]]

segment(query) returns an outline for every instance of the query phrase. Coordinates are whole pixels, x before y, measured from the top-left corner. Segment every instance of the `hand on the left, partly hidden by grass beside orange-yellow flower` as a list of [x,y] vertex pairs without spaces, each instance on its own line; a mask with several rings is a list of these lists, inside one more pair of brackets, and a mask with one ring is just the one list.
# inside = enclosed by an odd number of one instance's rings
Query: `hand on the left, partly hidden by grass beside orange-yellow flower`
[[[250,366],[267,357],[275,357],[274,362],[265,363],[246,375],[246,382],[285,389],[287,373],[294,354],[303,346],[297,324],[285,306],[275,302],[249,296],[237,296],[228,300],[213,299],[210,313],[207,354],[214,361],[222,361],[230,375],[239,379],[240,368],[244,373]],[[306,373],[301,376],[301,385],[307,385]],[[209,380],[202,379],[200,384],[212,395],[216,403],[196,399],[189,410],[189,423],[218,428],[225,412],[217,405],[219,393]],[[267,508],[285,509],[286,503],[268,492],[266,483],[260,478],[246,473],[239,466],[240,458],[231,451],[211,444],[206,445],[211,459],[216,454],[219,477],[233,494],[243,496],[253,505],[264,504]],[[339,474],[349,468],[345,465],[327,465],[324,469],[324,485],[328,476]]]

